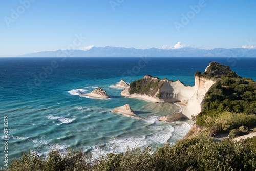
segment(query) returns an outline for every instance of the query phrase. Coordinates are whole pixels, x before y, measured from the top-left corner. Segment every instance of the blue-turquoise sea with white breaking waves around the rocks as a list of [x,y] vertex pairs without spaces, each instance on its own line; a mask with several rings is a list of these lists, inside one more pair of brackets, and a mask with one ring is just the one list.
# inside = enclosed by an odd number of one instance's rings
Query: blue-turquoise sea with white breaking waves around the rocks
[[[194,86],[195,72],[204,72],[211,61],[256,80],[253,57],[2,57],[0,156],[3,159],[8,154],[10,162],[29,150],[42,155],[52,149],[82,148],[97,158],[125,152],[127,147],[174,145],[193,121],[157,120],[179,106],[126,98],[113,85],[150,74]],[[111,98],[79,96],[96,88],[104,89]],[[111,113],[125,104],[146,120]],[[3,165],[1,162],[0,167]]]

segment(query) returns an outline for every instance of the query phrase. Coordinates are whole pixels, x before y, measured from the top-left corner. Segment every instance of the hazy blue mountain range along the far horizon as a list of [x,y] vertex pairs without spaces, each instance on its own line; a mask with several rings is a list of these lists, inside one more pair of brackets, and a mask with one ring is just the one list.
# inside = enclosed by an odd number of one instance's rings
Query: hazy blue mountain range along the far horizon
[[120,47],[92,47],[84,50],[42,51],[19,55],[19,57],[256,57],[256,49],[135,49]]

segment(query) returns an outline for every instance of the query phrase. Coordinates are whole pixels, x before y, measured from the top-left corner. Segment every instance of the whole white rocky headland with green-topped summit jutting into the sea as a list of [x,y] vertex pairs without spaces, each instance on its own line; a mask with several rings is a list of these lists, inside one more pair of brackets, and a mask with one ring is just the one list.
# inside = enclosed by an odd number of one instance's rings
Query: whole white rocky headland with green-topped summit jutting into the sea
[[185,86],[179,80],[172,81],[166,78],[161,80],[158,77],[146,75],[142,79],[132,82],[121,92],[121,95],[154,103],[182,102],[185,104],[182,111],[162,117],[160,120],[193,119],[202,110],[202,101],[206,92],[222,77],[237,78],[239,76],[231,71],[229,66],[211,62],[205,72],[195,73],[195,86]]

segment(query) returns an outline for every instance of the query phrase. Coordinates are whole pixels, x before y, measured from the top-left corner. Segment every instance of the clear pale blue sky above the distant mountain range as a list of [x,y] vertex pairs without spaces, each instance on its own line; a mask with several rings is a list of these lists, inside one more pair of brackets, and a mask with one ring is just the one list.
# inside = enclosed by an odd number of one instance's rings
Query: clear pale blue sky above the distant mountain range
[[255,0],[2,0],[0,56],[92,46],[256,48],[255,7]]

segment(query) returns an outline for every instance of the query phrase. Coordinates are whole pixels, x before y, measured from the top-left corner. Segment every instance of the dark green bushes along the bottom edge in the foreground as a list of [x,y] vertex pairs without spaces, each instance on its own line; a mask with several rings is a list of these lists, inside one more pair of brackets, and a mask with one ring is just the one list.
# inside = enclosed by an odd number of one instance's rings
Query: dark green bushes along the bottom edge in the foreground
[[8,170],[255,170],[255,139],[245,142],[188,139],[157,149],[127,149],[90,159],[79,152],[61,155],[51,152],[47,159],[30,152],[11,162]]

